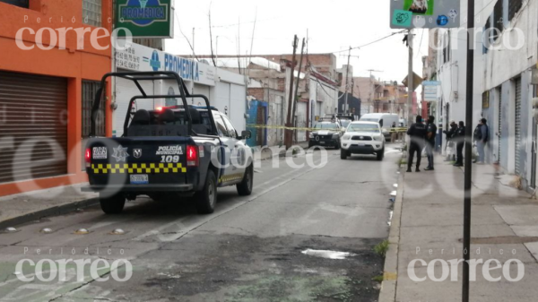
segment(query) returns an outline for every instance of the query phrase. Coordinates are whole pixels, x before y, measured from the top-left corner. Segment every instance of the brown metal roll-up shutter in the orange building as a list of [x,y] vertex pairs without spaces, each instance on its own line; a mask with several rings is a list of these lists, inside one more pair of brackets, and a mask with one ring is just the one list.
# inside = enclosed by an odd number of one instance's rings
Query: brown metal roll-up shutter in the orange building
[[67,81],[0,71],[0,183],[67,173]]

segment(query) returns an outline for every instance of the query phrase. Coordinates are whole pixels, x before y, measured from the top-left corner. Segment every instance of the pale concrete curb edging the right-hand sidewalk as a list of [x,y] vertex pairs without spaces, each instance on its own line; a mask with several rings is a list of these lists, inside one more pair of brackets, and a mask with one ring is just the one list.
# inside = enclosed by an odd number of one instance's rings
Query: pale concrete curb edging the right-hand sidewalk
[[388,235],[388,250],[386,251],[383,282],[379,291],[378,302],[394,302],[396,299],[396,283],[398,278],[398,246],[400,244],[400,225],[402,220],[402,202],[404,199],[404,172],[402,168],[398,177],[393,219]]

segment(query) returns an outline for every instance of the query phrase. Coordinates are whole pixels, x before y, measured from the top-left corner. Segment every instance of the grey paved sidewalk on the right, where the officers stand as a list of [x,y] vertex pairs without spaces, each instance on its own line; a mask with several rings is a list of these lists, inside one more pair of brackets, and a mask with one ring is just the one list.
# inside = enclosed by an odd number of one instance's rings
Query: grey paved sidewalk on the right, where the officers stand
[[[424,159],[425,160],[425,159]],[[402,167],[400,187],[386,255],[385,280],[379,301],[461,301],[462,270],[460,263],[452,269],[442,261],[461,259],[464,222],[464,170],[436,157],[435,171],[405,173]],[[423,161],[425,168],[427,160]],[[414,168],[413,168],[414,171]],[[473,207],[471,259],[497,259],[505,264],[518,259],[525,267],[522,280],[509,281],[501,268],[490,271],[485,279],[484,265],[476,265],[476,281],[471,281],[470,300],[536,301],[538,300],[538,203],[530,194],[507,183],[507,177],[495,177],[492,166],[473,164]],[[415,259],[430,264],[435,275],[430,278],[427,265],[415,261],[412,280],[408,266]],[[510,278],[516,278],[516,263],[510,263]],[[434,267],[435,265],[435,267]],[[490,264],[490,269],[496,263]],[[507,266],[508,268],[508,266]],[[443,278],[446,280],[434,281]],[[451,281],[452,273],[457,280]]]

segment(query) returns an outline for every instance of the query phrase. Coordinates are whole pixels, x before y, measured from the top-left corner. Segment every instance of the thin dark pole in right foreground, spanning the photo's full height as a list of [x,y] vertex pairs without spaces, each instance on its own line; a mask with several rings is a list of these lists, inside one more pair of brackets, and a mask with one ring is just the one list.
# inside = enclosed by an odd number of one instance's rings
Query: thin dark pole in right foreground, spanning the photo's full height
[[465,84],[465,157],[464,157],[464,281],[462,301],[469,302],[469,260],[471,255],[471,189],[473,152],[473,66],[474,66],[474,0],[467,0],[467,82]]

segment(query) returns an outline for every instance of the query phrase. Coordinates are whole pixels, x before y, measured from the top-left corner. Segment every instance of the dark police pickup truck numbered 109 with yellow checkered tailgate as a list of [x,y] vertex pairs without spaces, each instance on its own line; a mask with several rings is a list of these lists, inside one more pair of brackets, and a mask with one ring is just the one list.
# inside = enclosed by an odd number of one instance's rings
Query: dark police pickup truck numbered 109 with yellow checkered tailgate
[[[121,137],[94,135],[108,77],[131,80],[141,92],[129,101]],[[140,82],[155,80],[178,82],[179,94],[146,94]],[[167,98],[183,105],[133,109],[137,100],[140,104]],[[203,99],[205,106],[187,104],[187,99],[195,98]],[[178,201],[194,196],[199,213],[212,213],[217,187],[237,186],[239,195],[252,192],[253,156],[244,142],[250,135],[249,131],[238,135],[228,117],[212,108],[204,95],[189,94],[178,73],[107,73],[91,108],[91,139],[85,150],[90,185],[82,191],[99,192],[107,214],[121,212],[126,200],[138,195]]]

